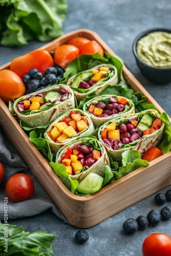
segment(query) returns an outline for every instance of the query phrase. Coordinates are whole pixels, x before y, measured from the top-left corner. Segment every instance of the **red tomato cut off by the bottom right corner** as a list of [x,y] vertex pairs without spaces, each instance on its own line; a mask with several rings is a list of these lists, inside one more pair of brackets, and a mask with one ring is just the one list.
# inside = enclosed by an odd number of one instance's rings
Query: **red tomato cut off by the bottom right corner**
[[142,245],[143,256],[170,256],[171,238],[163,233],[150,234]]

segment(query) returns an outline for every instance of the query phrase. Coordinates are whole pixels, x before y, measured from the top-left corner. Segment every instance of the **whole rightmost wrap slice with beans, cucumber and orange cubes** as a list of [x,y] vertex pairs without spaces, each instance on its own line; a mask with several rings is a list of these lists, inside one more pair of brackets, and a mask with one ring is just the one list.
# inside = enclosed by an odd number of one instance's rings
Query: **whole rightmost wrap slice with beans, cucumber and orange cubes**
[[[153,124],[155,119],[159,120],[159,129]],[[126,150],[137,150],[142,157],[149,147],[157,146],[162,139],[164,126],[157,111],[146,110],[104,123],[98,131],[98,138],[112,158],[121,162],[121,154]],[[132,137],[125,133],[130,133]]]

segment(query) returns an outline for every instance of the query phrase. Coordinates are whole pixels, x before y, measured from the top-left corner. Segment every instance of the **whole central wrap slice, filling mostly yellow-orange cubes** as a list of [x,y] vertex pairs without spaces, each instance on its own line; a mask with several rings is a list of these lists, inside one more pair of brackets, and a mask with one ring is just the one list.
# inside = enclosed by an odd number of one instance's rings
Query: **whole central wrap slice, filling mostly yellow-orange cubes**
[[95,131],[91,118],[82,110],[72,109],[59,116],[50,124],[44,137],[50,147],[57,153],[62,146],[86,137]]

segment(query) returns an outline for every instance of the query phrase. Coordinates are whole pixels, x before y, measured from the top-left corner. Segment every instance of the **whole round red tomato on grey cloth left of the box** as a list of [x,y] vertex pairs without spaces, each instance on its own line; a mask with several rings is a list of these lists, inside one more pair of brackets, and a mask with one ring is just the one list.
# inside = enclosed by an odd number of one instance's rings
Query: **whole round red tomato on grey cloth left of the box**
[[6,194],[13,202],[31,198],[34,194],[34,182],[27,174],[15,174],[6,183]]

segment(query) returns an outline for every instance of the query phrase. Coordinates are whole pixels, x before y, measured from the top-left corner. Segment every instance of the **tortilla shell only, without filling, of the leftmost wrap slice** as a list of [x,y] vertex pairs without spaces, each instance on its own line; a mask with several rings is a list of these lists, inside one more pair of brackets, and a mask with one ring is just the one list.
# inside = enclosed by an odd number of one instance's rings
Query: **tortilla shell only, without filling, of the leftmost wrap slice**
[[[37,95],[37,93],[43,93],[43,92],[50,92],[50,91],[56,91],[58,92],[60,90],[60,87],[65,87],[65,89],[69,92],[69,98],[66,100],[63,100],[54,106],[52,108],[45,110],[45,111],[32,111],[32,113],[28,115],[21,114],[17,109],[17,103],[22,100],[27,100],[31,95]],[[29,127],[36,127],[39,125],[47,125],[51,123],[53,120],[55,120],[58,116],[63,114],[63,112],[66,112],[69,109],[75,108],[75,98],[73,91],[68,88],[67,86],[63,84],[57,84],[55,86],[51,86],[45,89],[42,89],[40,91],[36,91],[34,93],[30,93],[27,95],[24,95],[17,100],[15,100],[13,104],[13,110],[16,114],[16,117],[19,120],[23,120]]]

